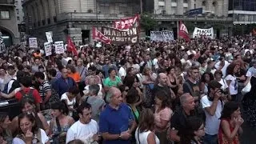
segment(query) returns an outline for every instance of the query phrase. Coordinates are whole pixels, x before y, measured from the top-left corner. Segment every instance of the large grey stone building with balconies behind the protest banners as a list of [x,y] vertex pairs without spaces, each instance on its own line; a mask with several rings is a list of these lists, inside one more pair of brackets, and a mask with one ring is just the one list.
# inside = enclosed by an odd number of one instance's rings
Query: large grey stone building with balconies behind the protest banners
[[[150,1],[150,0],[146,0]],[[151,0],[159,29],[172,30],[175,22],[222,22],[227,18],[228,0]],[[74,42],[91,42],[93,26],[113,26],[120,18],[140,13],[144,0],[24,0],[26,33],[46,39],[45,32],[52,31],[54,41],[64,40],[69,35]],[[143,4],[142,4],[143,5]],[[213,6],[214,5],[214,6]],[[211,17],[198,15],[188,18],[186,10],[203,7]],[[232,22],[231,22],[232,23]],[[177,29],[177,28],[176,28]],[[227,28],[226,28],[227,29]]]

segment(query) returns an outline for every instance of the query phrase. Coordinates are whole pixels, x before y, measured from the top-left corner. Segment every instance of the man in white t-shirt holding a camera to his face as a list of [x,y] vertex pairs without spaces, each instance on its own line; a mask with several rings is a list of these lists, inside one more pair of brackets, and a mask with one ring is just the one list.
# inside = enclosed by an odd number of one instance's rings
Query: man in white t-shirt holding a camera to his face
[[202,97],[202,108],[206,114],[206,135],[203,143],[217,144],[218,143],[218,127],[220,125],[220,117],[224,106],[222,84],[213,80],[208,85],[209,93]]

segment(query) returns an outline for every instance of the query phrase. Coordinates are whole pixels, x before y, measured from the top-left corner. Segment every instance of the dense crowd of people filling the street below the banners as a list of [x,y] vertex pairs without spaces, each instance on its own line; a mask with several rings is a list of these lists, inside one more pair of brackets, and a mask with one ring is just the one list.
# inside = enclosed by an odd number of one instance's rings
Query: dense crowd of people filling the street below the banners
[[11,46],[0,54],[0,97],[21,112],[0,113],[0,143],[239,143],[242,123],[256,126],[255,49],[251,36],[48,57]]

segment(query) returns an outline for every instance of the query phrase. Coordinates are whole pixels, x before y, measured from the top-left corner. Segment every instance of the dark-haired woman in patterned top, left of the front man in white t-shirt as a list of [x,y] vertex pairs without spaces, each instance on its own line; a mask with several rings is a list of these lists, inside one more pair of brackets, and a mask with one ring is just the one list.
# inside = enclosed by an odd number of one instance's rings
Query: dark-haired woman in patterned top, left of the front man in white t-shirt
[[53,118],[50,121],[50,135],[54,142],[65,143],[66,133],[73,125],[74,119],[68,116],[66,102],[55,102],[51,106]]

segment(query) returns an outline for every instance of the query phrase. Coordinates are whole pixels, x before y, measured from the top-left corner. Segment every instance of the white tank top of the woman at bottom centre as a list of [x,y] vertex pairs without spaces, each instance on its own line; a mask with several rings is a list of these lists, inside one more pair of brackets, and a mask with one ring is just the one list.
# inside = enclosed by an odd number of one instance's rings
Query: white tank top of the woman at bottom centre
[[[138,133],[138,128],[135,131],[135,138],[136,138],[136,143],[137,144],[147,144],[147,137],[152,131],[147,130],[142,133]],[[156,144],[160,144],[160,141],[158,137],[154,134],[154,139]]]

